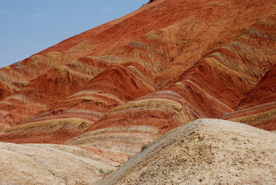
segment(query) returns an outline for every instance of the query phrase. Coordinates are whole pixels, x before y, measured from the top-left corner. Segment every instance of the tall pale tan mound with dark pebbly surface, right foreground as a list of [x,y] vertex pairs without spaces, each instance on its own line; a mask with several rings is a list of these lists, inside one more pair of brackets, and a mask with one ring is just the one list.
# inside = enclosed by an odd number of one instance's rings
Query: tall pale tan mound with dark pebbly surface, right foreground
[[276,134],[199,119],[176,128],[94,184],[275,184]]

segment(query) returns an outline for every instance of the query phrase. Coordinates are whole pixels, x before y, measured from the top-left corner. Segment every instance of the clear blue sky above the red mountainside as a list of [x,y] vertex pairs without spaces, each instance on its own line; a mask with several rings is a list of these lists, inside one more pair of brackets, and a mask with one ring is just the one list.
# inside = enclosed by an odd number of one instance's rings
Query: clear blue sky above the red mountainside
[[139,9],[149,0],[0,0],[0,68]]

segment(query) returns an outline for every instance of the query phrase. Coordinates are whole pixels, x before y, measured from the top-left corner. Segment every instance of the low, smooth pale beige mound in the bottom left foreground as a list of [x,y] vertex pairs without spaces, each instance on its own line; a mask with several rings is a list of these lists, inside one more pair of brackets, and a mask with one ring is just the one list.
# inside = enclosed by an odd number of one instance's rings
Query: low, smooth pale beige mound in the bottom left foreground
[[0,142],[0,184],[88,184],[115,169],[93,158],[75,146]]

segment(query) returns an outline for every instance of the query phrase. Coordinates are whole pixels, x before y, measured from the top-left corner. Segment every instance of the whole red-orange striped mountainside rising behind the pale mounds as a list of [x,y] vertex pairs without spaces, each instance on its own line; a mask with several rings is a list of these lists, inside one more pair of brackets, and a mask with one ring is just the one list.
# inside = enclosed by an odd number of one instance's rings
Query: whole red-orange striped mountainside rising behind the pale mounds
[[119,167],[199,118],[274,131],[275,20],[275,1],[156,0],[75,35],[0,69],[0,141]]

